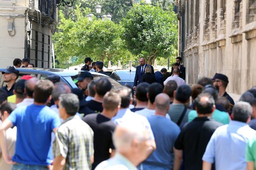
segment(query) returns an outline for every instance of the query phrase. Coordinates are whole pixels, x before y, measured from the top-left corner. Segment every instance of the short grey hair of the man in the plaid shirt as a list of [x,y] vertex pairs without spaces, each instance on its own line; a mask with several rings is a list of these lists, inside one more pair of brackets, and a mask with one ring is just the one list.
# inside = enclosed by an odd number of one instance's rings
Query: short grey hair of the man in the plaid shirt
[[74,116],[79,110],[78,96],[73,93],[61,94],[59,96],[59,105],[61,108],[66,109],[66,113]]

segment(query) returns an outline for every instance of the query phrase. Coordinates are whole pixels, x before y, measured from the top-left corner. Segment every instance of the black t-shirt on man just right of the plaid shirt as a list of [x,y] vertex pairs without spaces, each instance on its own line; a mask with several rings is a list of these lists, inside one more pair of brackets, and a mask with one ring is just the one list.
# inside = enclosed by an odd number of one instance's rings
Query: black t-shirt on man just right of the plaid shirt
[[94,131],[94,169],[99,163],[110,158],[109,149],[114,149],[112,134],[117,125],[98,113],[85,116],[84,121]]

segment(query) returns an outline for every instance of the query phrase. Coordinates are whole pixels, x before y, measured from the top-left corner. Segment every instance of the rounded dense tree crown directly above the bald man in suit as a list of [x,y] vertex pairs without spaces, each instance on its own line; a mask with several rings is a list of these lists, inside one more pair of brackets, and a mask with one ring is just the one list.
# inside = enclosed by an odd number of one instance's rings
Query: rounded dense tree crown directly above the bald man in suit
[[176,55],[176,14],[152,5],[134,5],[123,22],[122,38],[126,48],[152,64],[156,57]]

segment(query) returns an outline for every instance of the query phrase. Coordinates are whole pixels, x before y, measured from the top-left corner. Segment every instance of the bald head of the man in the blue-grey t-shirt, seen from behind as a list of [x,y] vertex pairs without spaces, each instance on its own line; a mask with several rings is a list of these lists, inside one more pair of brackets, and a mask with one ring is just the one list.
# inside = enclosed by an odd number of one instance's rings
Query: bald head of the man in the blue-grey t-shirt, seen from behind
[[155,111],[166,114],[169,110],[170,98],[165,93],[160,93],[155,97]]

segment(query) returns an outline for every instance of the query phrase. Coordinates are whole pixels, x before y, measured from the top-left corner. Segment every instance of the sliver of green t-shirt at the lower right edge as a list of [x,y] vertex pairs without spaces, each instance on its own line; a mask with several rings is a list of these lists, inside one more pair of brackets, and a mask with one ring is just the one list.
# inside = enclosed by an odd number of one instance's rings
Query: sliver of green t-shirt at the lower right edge
[[256,136],[248,141],[246,146],[246,161],[254,162],[256,167]]

